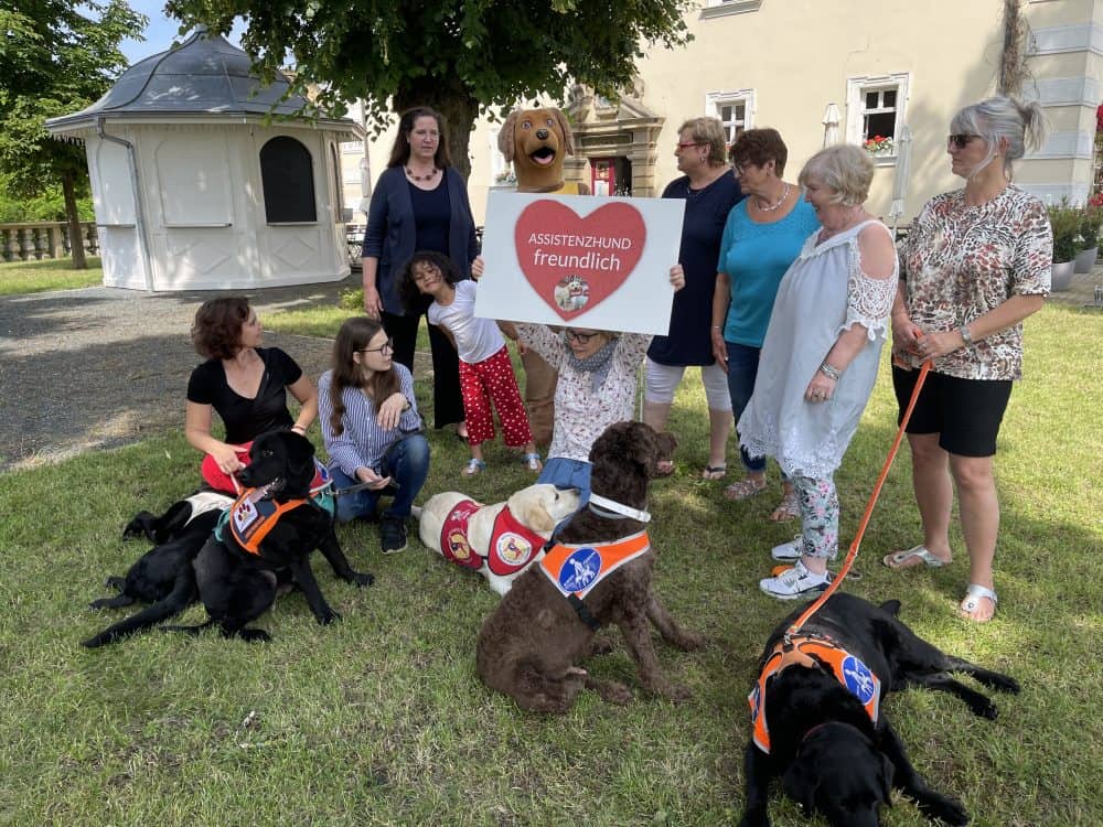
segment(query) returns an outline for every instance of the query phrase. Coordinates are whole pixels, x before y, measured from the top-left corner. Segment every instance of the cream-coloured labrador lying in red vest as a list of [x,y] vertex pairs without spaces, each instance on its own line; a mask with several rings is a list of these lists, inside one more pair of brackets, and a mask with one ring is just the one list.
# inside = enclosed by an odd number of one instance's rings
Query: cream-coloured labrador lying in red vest
[[529,485],[504,503],[483,505],[458,491],[435,494],[421,506],[421,543],[457,566],[483,574],[505,594],[563,519],[578,511],[578,492]]

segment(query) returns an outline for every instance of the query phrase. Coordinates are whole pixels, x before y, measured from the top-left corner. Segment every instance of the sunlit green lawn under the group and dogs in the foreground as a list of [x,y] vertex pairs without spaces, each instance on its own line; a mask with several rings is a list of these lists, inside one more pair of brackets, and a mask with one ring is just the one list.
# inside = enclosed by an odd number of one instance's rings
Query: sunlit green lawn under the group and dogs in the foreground
[[[266,319],[266,324],[270,320]],[[1103,314],[1047,307],[1027,325],[997,457],[1003,528],[996,620],[955,616],[967,568],[891,572],[879,558],[919,541],[907,449],[863,543],[864,578],[848,591],[900,598],[902,617],[943,648],[1007,672],[997,721],[955,698],[890,696],[919,771],[961,798],[974,825],[1103,824]],[[139,509],[159,511],[196,482],[182,437],[151,439],[61,465],[0,476],[0,824],[174,825],[733,825],[742,799],[746,696],[770,630],[791,609],[758,590],[769,549],[793,525],[765,520],[769,495],[727,503],[698,479],[707,459],[704,397],[684,384],[672,429],[678,471],[652,490],[656,588],[707,647],[657,643],[663,668],[688,685],[682,706],[636,691],[625,707],[590,694],[561,718],[521,712],[474,670],[479,626],[496,597],[419,543],[378,554],[376,527],[339,529],[353,565],[376,583],[314,569],[343,621],[313,622],[282,598],[249,645],[215,634],[152,633],[88,652],[79,641],[118,616],[87,603],[144,548],[124,543]],[[419,386],[425,405],[427,388]],[[849,541],[895,430],[887,372],[837,476]],[[317,426],[311,431],[320,442]],[[494,502],[531,479],[501,445],[472,480],[464,447],[430,434],[431,492]],[[729,452],[735,459],[733,447]],[[185,622],[199,622],[191,610]],[[638,687],[622,647],[587,664]],[[965,678],[968,681],[967,678]],[[774,824],[804,824],[774,788]],[[898,801],[889,827],[925,819]]]

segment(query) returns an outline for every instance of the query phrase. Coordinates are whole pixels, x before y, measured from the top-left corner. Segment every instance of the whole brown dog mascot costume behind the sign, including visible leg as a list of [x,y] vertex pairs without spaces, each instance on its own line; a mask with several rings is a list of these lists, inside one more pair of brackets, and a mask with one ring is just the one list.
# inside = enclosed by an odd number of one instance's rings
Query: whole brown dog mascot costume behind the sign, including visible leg
[[[497,133],[497,148],[513,163],[517,192],[555,195],[589,195],[590,187],[566,183],[563,163],[575,151],[567,117],[558,109],[516,109],[510,112]],[[525,406],[533,439],[542,445],[552,441],[555,423],[555,386],[558,375],[535,351],[521,356],[525,368]]]

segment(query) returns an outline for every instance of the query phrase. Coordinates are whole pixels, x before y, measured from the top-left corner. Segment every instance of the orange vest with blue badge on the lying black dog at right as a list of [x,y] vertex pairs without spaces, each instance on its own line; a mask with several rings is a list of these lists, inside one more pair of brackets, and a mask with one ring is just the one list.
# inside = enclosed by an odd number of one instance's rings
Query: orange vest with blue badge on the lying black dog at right
[[747,696],[751,707],[754,745],[770,754],[770,730],[765,723],[765,688],[770,679],[793,665],[831,673],[847,691],[857,698],[866,715],[876,724],[881,700],[881,681],[861,660],[827,637],[802,635],[789,647],[780,641],[767,658],[758,683]]

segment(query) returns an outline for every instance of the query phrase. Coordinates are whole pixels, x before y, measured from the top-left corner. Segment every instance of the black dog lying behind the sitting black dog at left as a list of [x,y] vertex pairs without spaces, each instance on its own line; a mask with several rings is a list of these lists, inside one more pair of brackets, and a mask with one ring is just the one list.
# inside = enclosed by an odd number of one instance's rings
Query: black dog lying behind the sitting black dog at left
[[114,643],[167,621],[194,603],[199,593],[192,561],[214,530],[223,509],[233,502],[233,497],[225,494],[201,492],[173,503],[161,516],[141,512],[130,520],[122,536],[146,536],[154,546],[138,558],[126,577],[107,578],[106,586],[119,593],[94,601],[92,608],[149,605],[84,641],[84,645],[96,648]]

